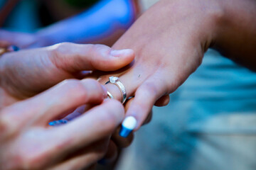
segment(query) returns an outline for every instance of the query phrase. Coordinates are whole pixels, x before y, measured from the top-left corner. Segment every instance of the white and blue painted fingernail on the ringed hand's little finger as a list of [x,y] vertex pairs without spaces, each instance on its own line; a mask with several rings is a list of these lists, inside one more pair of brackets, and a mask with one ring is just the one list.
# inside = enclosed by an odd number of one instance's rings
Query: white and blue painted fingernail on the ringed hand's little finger
[[127,137],[134,130],[137,125],[137,120],[133,116],[128,116],[122,122],[121,129],[119,131],[119,135],[121,137]]

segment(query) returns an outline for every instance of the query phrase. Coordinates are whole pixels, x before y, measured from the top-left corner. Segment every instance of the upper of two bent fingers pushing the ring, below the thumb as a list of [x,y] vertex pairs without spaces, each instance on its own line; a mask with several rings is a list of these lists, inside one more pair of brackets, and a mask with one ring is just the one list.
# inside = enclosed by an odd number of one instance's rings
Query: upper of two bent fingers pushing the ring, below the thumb
[[12,122],[15,121],[15,129],[23,125],[47,125],[49,120],[71,108],[102,102],[106,95],[107,92],[95,80],[69,79],[38,96],[6,108],[6,114],[1,114],[1,121],[6,125],[14,124]]

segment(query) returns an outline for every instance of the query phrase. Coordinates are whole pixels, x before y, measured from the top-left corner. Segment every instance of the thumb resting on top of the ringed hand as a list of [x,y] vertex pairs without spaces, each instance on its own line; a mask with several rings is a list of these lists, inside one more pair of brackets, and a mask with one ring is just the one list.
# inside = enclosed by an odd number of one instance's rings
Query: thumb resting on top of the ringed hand
[[133,50],[112,50],[106,45],[81,45],[63,42],[46,47],[54,52],[50,60],[67,72],[82,70],[114,71],[134,60]]

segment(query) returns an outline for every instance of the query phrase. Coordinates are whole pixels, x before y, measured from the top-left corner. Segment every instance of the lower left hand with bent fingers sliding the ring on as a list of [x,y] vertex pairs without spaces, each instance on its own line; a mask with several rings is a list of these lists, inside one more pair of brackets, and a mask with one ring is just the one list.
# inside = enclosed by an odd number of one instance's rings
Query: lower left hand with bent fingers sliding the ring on
[[[124,118],[122,104],[92,79],[66,80],[0,111],[0,169],[82,169],[102,158]],[[102,102],[103,101],[103,102]],[[48,122],[83,104],[98,104],[58,127]],[[111,147],[112,146],[112,147]],[[116,147],[115,147],[116,148]]]

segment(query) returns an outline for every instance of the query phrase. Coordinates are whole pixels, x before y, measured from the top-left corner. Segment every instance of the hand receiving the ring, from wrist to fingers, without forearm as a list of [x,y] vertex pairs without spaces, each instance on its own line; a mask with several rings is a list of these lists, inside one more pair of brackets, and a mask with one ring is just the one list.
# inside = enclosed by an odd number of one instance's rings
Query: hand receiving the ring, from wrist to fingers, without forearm
[[[189,1],[159,1],[113,46],[132,48],[135,62],[124,72],[101,77],[100,82],[104,84],[115,75],[126,87],[127,96],[134,96],[126,116],[137,119],[135,130],[144,123],[156,101],[158,105],[169,103],[168,95],[201,64],[216,19],[210,20],[215,14],[213,10],[202,11],[203,5],[196,5]],[[198,10],[196,14],[188,10],[191,6]],[[121,99],[117,86],[106,87],[114,98]]]

